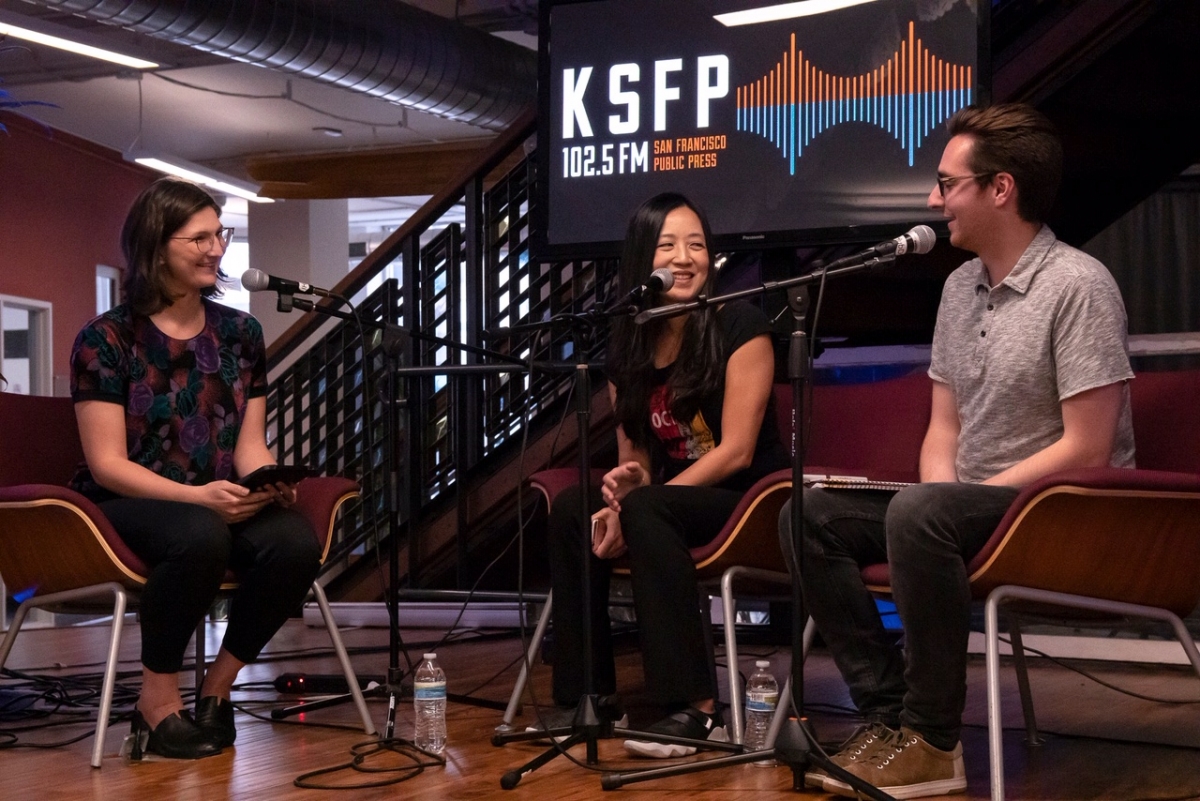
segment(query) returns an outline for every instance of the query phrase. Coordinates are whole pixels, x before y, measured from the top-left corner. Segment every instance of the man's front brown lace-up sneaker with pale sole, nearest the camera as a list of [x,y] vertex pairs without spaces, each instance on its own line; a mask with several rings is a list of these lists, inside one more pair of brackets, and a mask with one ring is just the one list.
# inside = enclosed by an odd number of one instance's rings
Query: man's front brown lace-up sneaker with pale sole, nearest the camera
[[[954,751],[942,751],[907,727],[892,731],[868,759],[847,765],[846,770],[894,799],[949,795],[967,789],[962,743],[954,746]],[[857,796],[848,784],[832,776],[826,777],[823,787],[826,793]]]

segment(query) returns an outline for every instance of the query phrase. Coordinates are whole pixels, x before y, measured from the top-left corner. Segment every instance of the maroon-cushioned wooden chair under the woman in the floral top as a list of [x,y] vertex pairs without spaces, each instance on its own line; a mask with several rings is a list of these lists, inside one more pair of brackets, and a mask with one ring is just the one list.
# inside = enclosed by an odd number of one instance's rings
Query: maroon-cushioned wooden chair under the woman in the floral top
[[[31,609],[110,609],[112,636],[91,754],[92,767],[100,767],[112,713],[125,612],[130,601],[136,602],[149,571],[121,541],[100,508],[65,486],[83,459],[70,398],[0,393],[0,576],[10,591],[23,598],[7,636],[0,643],[0,668]],[[296,508],[312,523],[324,553],[328,553],[338,510],[358,495],[358,484],[348,478],[307,478],[301,482]],[[222,590],[235,588],[236,578],[227,576]],[[329,602],[319,583],[314,582],[312,590],[364,729],[373,734],[374,724]],[[98,602],[102,598],[112,598],[110,606],[101,607]],[[200,627],[197,636],[197,687],[204,667],[203,621]]]

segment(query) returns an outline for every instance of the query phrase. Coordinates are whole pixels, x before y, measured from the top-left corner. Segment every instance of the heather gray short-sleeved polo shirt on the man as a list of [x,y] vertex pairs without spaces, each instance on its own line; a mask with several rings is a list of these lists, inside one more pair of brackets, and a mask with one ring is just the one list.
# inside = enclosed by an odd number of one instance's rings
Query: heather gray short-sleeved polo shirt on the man
[[[1062,401],[1133,378],[1124,303],[1103,264],[1049,227],[998,285],[972,259],[942,289],[929,375],[958,403],[955,468],[978,483],[1062,438]],[[1112,466],[1134,465],[1124,386]]]

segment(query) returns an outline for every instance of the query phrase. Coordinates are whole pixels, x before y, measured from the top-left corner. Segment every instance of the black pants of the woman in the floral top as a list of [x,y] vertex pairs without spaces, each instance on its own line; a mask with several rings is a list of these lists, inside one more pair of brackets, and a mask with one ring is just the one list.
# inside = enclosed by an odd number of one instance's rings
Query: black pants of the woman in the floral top
[[320,567],[308,520],[268,506],[242,523],[196,504],[121,498],[100,504],[121,538],[150,566],[142,591],[142,664],[178,673],[197,625],[216,597],[226,570],[240,582],[229,606],[222,645],[253,662],[304,601]]

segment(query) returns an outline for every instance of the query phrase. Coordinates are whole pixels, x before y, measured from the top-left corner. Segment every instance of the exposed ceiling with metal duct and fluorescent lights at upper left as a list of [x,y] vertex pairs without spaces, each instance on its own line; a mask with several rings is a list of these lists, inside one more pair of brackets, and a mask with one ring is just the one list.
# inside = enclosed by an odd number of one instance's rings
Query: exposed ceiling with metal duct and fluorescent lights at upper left
[[[484,145],[498,127],[503,127],[494,120],[488,126],[487,120],[476,119],[470,124],[448,119],[444,112],[421,110],[430,102],[398,104],[352,91],[330,83],[328,74],[322,80],[296,74],[294,68],[289,73],[253,66],[163,38],[169,35],[181,41],[184,34],[181,34],[178,24],[174,30],[149,35],[131,30],[138,25],[121,28],[96,19],[102,12],[122,5],[182,14],[197,6],[228,11],[235,6],[262,8],[264,4],[247,6],[245,0],[212,4],[0,0],[0,23],[32,28],[163,65],[158,70],[138,72],[44,46],[0,40],[0,80],[5,89],[17,100],[54,104],[29,107],[25,109],[29,116],[116,151],[168,153],[235,177],[253,177],[248,165],[257,164],[266,170],[270,180],[283,186],[282,189],[275,186],[282,192],[278,197],[428,194],[440,187],[446,170],[452,173],[454,164],[468,158],[474,147]],[[404,31],[413,28],[414,19],[425,22],[428,14],[422,12],[431,12],[437,16],[431,18],[432,23],[444,28],[446,36],[458,36],[463,30],[468,37],[494,34],[509,40],[498,46],[516,50],[518,60],[522,55],[532,59],[522,46],[533,48],[536,43],[532,35],[536,26],[535,0],[354,0],[353,4],[344,0],[318,0],[316,4],[293,0],[289,4],[282,0],[275,4],[272,13],[278,14],[278,8],[287,5],[299,5],[301,10],[316,7],[335,17],[349,10],[371,10],[376,17],[368,20],[368,28],[386,30],[386,25],[392,24],[395,30]],[[89,6],[100,10],[89,10]],[[91,18],[62,8],[84,10]],[[230,18],[234,16],[228,13]],[[392,17],[396,22],[391,22]],[[118,22],[127,23],[128,17]],[[331,28],[337,29],[337,23],[332,20]],[[208,47],[214,49],[215,46]],[[437,46],[430,49],[436,50]],[[451,61],[455,58],[452,52],[421,58],[439,55]],[[451,66],[460,67],[458,64]],[[449,73],[450,67],[445,72]],[[522,91],[532,97],[534,86],[523,86]],[[378,171],[362,170],[362,186],[342,181],[336,188],[311,188],[302,181],[293,181],[292,194],[287,194],[293,168],[312,173],[314,159],[311,156],[318,156],[316,161],[320,162],[367,151],[380,151],[379,155],[394,162],[400,159],[404,168],[391,171],[397,180],[403,179],[402,186],[390,187],[380,181]]]

